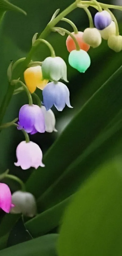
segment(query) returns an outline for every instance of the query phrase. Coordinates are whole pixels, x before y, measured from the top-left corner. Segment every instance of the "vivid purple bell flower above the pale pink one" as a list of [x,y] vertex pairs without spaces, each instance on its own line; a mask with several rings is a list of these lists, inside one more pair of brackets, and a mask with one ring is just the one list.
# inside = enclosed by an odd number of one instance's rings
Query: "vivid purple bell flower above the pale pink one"
[[20,128],[24,129],[30,134],[36,132],[45,132],[45,120],[42,110],[37,105],[24,105],[19,110],[19,122]]

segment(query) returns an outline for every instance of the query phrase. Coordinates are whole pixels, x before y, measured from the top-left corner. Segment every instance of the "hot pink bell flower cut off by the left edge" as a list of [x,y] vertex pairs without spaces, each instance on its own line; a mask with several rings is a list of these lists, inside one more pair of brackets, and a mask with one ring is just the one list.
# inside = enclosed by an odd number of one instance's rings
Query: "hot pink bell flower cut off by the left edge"
[[9,187],[5,183],[0,183],[0,208],[9,213],[12,206],[12,195]]

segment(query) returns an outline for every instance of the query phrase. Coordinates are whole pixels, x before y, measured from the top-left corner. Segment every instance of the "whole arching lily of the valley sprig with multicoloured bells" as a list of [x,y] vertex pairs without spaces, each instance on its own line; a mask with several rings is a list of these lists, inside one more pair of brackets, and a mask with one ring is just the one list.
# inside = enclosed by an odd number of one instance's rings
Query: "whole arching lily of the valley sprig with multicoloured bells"
[[[94,19],[88,9],[89,6],[96,9]],[[78,31],[75,24],[65,18],[76,8],[81,8],[87,13],[89,27],[85,28],[84,31]],[[57,132],[55,116],[51,110],[52,106],[55,106],[58,111],[62,111],[65,106],[72,108],[70,84],[67,84],[68,67],[60,56],[56,56],[53,46],[45,40],[46,36],[51,32],[59,33],[61,36],[67,34],[66,48],[69,52],[69,65],[82,73],[81,76],[83,76],[92,62],[88,52],[91,48],[94,48],[95,51],[95,48],[101,45],[102,40],[107,40],[108,47],[115,52],[122,50],[122,36],[119,34],[117,20],[110,9],[122,11],[122,6],[103,4],[96,0],[76,0],[62,13],[59,13],[59,9],[56,10],[44,31],[39,36],[38,33],[33,36],[32,47],[27,57],[10,63],[7,70],[8,90],[0,107],[0,130],[13,126],[18,129],[18,132],[24,133],[25,140],[20,142],[16,149],[17,161],[14,164],[17,167],[20,166],[23,170],[30,167],[35,169],[45,167],[45,163],[42,162],[43,156],[40,147],[35,142],[30,141],[28,134],[34,135],[39,132],[44,133],[45,136],[45,132]],[[59,21],[62,24],[63,22],[69,23],[73,31],[70,32],[64,27],[58,27]],[[47,45],[50,55],[46,59],[33,61],[33,54],[37,48],[41,47],[42,43]],[[38,89],[42,91],[42,106],[41,99],[36,94]],[[27,104],[21,106],[18,117],[3,124],[2,120],[12,96],[15,97],[16,94],[23,92],[27,93]],[[36,104],[33,104],[33,97],[36,99]],[[5,177],[16,180],[21,186],[21,191],[12,195],[8,185],[0,183],[0,208],[6,213],[35,216],[37,212],[36,201],[32,194],[25,191],[24,183],[8,173],[3,176],[0,176],[0,180]]]

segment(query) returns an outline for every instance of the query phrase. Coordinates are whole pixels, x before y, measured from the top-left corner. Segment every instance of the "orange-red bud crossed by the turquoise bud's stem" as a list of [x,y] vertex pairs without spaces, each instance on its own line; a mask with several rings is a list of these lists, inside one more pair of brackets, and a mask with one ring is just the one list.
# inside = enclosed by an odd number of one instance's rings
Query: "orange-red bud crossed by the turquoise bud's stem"
[[[77,39],[77,42],[80,46],[80,48],[84,51],[88,51],[89,48],[90,48],[90,45],[86,44],[84,41],[83,41],[83,32],[81,31],[78,31],[77,34],[75,34],[74,32],[72,32],[72,34],[74,35],[74,37]],[[74,40],[71,38],[70,35],[68,35],[68,38],[66,40],[66,46],[67,46],[67,49],[68,49],[68,52],[71,52],[73,50],[76,50],[76,45],[74,43]]]

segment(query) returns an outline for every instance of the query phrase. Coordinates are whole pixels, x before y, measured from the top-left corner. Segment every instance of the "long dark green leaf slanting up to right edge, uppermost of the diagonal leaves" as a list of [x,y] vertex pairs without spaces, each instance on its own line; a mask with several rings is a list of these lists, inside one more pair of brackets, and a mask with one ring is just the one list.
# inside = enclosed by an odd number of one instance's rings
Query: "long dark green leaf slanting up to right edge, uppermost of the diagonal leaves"
[[63,174],[69,164],[87,149],[89,144],[122,109],[121,73],[122,68],[120,67],[84,104],[45,154],[44,170],[38,168],[31,174],[27,181],[27,189],[36,197],[44,193]]

